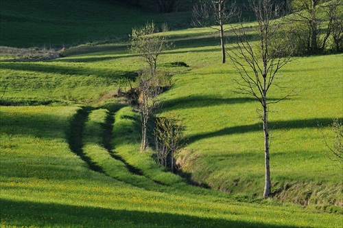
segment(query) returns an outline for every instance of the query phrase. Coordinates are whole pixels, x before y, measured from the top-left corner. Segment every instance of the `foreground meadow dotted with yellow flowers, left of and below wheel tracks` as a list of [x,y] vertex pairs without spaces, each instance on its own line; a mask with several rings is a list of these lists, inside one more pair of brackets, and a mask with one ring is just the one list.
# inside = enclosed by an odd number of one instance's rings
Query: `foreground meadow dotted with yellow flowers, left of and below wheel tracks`
[[[60,106],[1,107],[1,225],[340,226],[341,218],[337,214],[318,214],[294,205],[237,203],[225,194],[204,196],[191,192],[147,191],[131,185],[130,179],[126,183],[94,172],[69,149],[68,139],[75,137],[69,135],[73,133],[70,128],[73,119],[79,117],[78,112],[80,108]],[[84,125],[83,150],[89,143],[101,144],[99,124],[104,123],[105,113],[100,109],[89,114]],[[121,117],[117,116],[117,120],[135,129],[130,118],[135,114],[126,108],[119,113]],[[87,134],[91,128],[93,133]]]

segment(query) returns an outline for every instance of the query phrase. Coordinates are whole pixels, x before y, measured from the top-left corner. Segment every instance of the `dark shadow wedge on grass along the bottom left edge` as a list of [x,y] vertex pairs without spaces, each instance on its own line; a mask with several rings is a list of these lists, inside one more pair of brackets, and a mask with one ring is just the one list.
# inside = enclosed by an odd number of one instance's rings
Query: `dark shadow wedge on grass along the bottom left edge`
[[285,227],[166,212],[1,199],[1,222],[19,227]]

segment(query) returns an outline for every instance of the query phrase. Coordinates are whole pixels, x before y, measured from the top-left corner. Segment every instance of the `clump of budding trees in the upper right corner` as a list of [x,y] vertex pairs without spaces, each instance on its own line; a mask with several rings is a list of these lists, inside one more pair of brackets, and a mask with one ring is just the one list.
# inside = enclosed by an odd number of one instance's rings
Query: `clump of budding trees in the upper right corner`
[[296,54],[340,52],[343,47],[342,0],[292,0],[289,23],[296,27],[293,43]]

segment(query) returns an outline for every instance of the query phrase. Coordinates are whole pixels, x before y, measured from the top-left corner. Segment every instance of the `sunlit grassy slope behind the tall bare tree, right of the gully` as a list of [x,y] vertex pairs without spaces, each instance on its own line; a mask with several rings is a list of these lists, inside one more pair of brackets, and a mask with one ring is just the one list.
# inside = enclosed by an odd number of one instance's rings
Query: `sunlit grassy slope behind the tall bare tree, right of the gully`
[[[239,76],[230,64],[208,60],[209,53],[182,59],[206,58],[209,63],[176,76],[174,88],[163,95],[164,110],[178,111],[187,126],[189,148],[181,153],[180,162],[196,181],[237,194],[261,195],[263,135],[255,112],[259,104],[232,92],[233,79]],[[333,118],[342,118],[342,69],[337,67],[341,63],[342,55],[298,58],[280,72],[278,83],[287,89],[274,87],[271,95],[281,98],[294,89],[294,96],[271,108],[272,182],[277,187],[306,182],[299,191],[311,193],[318,190],[311,182],[329,185],[326,194],[335,192],[331,203],[342,202],[342,170],[327,159],[318,124],[327,126]]]

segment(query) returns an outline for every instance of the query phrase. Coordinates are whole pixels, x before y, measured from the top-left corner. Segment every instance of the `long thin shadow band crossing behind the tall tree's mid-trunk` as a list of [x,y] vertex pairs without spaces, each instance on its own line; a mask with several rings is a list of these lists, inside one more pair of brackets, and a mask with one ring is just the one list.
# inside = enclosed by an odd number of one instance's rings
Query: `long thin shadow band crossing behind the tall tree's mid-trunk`
[[[342,119],[339,119],[342,122]],[[333,119],[330,118],[314,118],[314,119],[294,119],[289,121],[269,122],[270,129],[296,129],[296,128],[318,128],[318,126],[328,126],[332,124]],[[233,126],[230,128],[222,128],[222,130],[213,131],[211,133],[202,133],[198,135],[191,135],[187,138],[187,142],[192,143],[201,139],[210,137],[220,137],[224,135],[250,133],[255,131],[262,131],[262,123],[250,124],[244,126]]]

